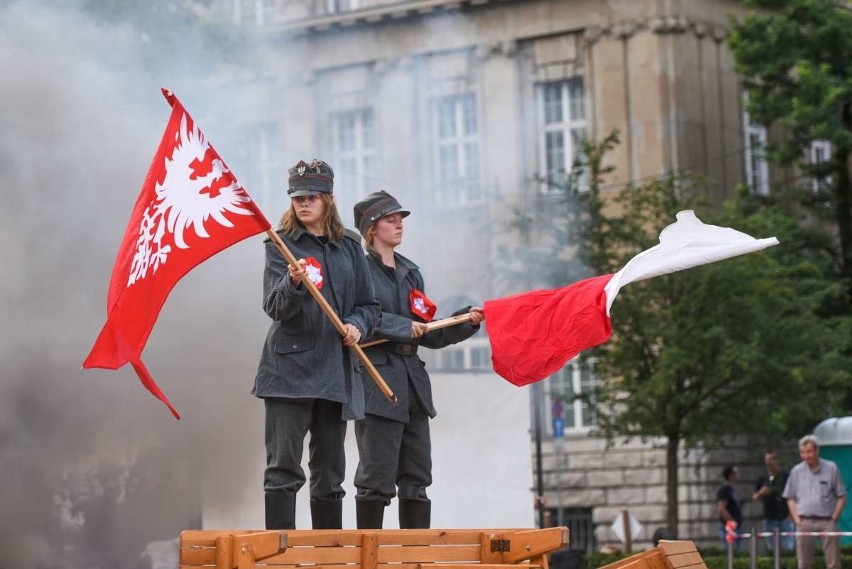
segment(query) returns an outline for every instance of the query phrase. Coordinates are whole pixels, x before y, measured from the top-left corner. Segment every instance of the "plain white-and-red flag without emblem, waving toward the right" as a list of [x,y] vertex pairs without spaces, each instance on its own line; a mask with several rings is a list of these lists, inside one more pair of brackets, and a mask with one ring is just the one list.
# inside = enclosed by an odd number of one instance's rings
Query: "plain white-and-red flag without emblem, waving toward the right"
[[624,285],[777,244],[775,237],[755,239],[706,225],[694,212],[681,211],[660,233],[658,245],[630,259],[617,273],[486,301],[494,371],[515,385],[540,381],[581,351],[609,339],[610,308]]

